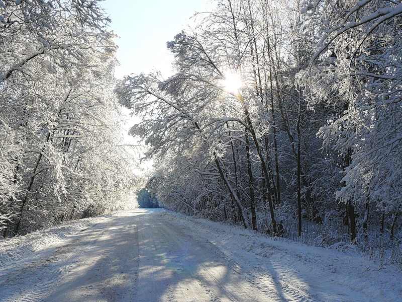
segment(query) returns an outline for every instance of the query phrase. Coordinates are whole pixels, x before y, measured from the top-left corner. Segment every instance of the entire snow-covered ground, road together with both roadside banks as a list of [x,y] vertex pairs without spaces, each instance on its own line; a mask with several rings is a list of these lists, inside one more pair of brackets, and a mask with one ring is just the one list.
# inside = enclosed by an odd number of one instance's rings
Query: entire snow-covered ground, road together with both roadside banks
[[397,301],[402,273],[340,251],[137,209],[0,241],[0,301],[43,300]]

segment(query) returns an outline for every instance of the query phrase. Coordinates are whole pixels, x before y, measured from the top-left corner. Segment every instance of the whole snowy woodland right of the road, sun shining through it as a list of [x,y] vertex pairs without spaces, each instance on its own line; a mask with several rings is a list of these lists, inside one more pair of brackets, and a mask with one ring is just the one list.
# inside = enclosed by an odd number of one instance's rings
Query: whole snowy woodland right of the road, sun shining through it
[[216,4],[167,43],[172,77],[116,88],[142,117],[130,133],[156,163],[147,189],[164,207],[271,235],[398,236],[402,4]]

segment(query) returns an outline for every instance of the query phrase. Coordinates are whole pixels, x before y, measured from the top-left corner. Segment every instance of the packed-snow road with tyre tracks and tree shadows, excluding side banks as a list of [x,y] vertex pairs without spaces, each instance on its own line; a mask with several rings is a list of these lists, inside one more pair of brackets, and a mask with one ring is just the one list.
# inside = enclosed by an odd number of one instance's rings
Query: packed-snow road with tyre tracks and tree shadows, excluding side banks
[[244,250],[226,251],[170,218],[138,209],[81,230],[17,261],[0,281],[15,290],[0,300],[313,300],[294,280],[250,265]]

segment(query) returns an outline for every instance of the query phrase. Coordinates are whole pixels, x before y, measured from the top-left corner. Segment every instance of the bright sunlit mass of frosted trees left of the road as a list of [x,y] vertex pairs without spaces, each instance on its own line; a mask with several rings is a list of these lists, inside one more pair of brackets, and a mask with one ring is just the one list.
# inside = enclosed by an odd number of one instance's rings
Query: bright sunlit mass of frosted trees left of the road
[[113,208],[130,186],[107,22],[97,1],[0,2],[4,236]]

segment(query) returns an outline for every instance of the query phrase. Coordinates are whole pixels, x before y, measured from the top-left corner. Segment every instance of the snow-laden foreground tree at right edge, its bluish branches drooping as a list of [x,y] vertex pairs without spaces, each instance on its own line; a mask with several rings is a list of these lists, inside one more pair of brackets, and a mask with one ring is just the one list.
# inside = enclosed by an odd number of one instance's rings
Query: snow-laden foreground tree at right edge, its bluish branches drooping
[[325,1],[303,11],[315,21],[308,30],[321,38],[299,84],[312,107],[324,103],[334,109],[319,135],[342,159],[345,175],[337,198],[347,205],[352,238],[355,211],[364,213],[357,226],[361,222],[366,230],[369,216],[384,225],[385,218],[392,236],[401,211],[402,5]]

